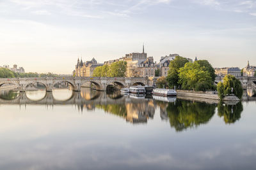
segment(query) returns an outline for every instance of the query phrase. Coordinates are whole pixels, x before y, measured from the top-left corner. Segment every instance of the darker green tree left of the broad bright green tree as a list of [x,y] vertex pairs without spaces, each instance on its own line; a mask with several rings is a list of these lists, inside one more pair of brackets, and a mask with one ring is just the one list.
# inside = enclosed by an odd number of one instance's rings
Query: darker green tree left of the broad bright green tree
[[168,75],[166,76],[170,88],[173,88],[174,86],[178,87],[180,85],[178,75],[179,69],[184,67],[187,62],[189,62],[188,59],[180,56],[176,56],[174,60],[170,61]]

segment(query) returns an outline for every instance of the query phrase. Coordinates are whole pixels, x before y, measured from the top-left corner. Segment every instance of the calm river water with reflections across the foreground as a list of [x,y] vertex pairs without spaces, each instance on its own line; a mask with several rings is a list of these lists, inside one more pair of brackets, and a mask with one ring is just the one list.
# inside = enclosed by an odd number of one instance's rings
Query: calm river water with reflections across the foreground
[[2,91],[0,169],[256,169],[250,100]]

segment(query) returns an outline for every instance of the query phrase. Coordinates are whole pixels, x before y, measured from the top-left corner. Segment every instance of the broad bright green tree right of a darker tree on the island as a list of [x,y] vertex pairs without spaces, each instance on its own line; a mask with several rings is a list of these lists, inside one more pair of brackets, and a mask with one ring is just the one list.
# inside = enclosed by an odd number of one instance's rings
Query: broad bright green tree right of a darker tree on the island
[[208,71],[204,71],[197,62],[188,62],[179,69],[179,84],[186,90],[209,90],[212,89],[212,78]]

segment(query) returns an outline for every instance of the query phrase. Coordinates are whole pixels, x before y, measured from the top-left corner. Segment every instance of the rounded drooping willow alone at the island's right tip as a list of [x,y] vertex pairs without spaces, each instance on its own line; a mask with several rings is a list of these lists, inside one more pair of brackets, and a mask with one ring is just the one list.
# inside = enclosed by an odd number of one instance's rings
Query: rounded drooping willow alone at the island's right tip
[[241,99],[241,97],[243,96],[243,88],[241,82],[237,80],[235,76],[232,76],[230,74],[227,74],[223,78],[223,83],[218,83],[217,90],[220,99],[230,94],[234,94],[235,96],[239,97],[239,99]]

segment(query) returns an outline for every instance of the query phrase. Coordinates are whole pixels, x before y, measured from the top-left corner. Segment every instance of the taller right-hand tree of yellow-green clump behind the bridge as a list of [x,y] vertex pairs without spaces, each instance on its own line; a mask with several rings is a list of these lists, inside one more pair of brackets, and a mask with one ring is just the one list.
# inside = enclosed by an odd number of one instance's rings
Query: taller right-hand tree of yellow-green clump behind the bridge
[[108,77],[124,77],[127,69],[126,61],[113,62],[108,69]]

